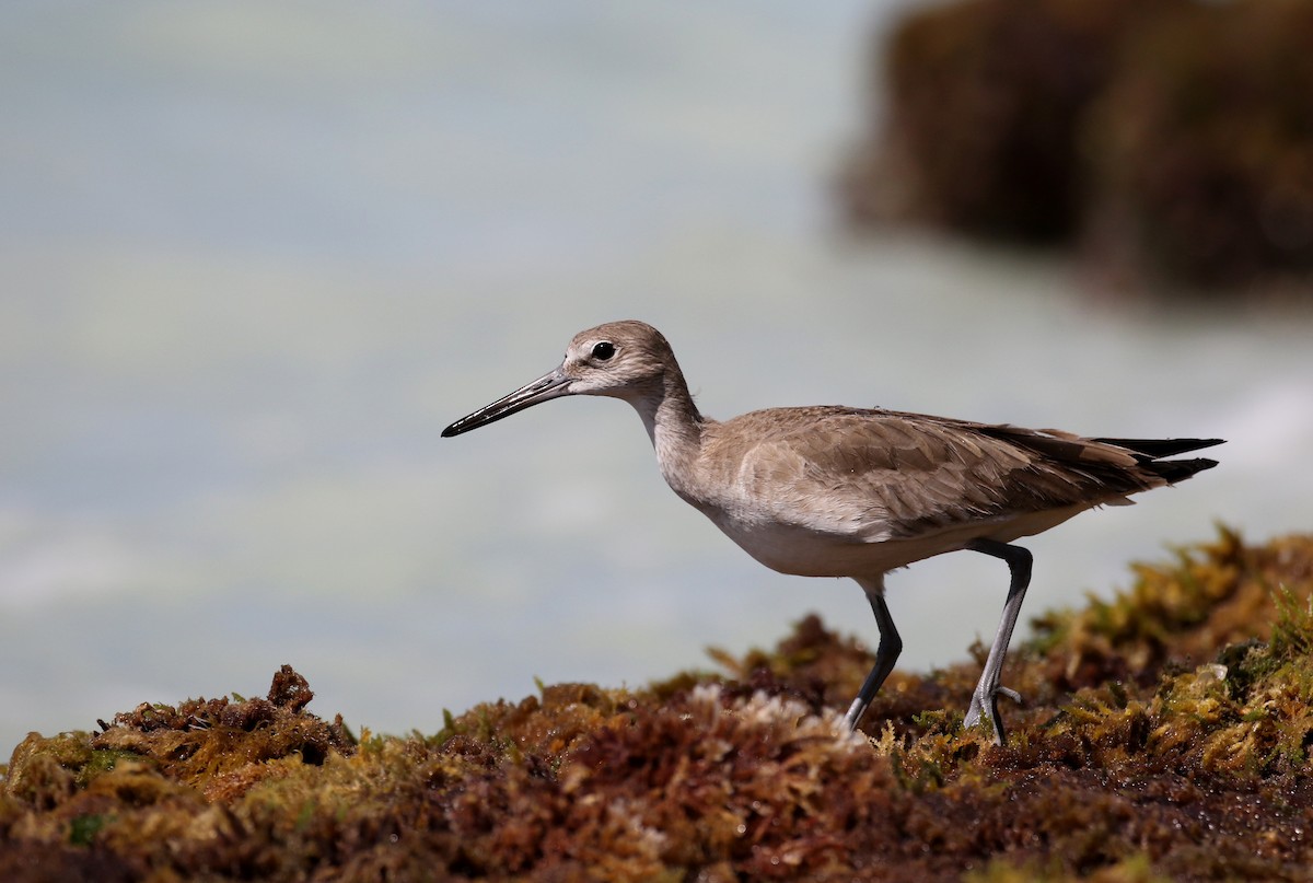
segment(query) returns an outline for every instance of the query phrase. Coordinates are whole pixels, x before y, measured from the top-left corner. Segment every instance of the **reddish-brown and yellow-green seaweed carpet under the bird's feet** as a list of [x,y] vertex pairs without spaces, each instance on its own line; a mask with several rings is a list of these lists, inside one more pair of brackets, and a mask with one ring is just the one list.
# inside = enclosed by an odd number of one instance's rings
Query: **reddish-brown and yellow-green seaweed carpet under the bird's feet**
[[1308,879],[1313,536],[1232,531],[1041,618],[1010,745],[964,732],[977,661],[871,665],[807,618],[722,673],[540,685],[362,732],[268,696],[32,735],[0,788],[0,879]]

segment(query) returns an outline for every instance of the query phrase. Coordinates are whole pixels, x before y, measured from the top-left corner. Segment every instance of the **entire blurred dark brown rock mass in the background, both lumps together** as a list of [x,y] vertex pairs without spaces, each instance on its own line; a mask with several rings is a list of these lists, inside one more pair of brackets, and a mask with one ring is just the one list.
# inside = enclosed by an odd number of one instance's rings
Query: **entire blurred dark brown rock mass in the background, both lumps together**
[[1074,246],[1109,284],[1313,294],[1313,5],[957,0],[881,35],[853,227]]

